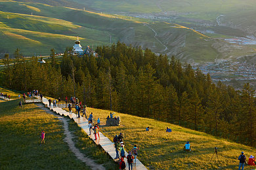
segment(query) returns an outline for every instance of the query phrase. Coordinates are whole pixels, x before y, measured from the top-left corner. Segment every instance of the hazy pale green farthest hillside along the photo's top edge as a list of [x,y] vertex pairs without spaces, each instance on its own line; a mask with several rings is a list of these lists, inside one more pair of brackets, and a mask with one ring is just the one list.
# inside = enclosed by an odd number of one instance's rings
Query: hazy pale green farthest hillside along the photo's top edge
[[[35,0],[18,0],[24,2],[38,3]],[[131,1],[116,1],[116,0],[99,0],[99,1],[68,1],[43,0],[40,3],[48,5],[75,7],[78,9],[90,9],[108,13],[126,13],[126,14],[142,14],[142,13],[161,13],[167,12],[179,16],[186,16],[188,18],[198,18],[203,20],[215,20],[220,14],[228,14],[230,12],[239,10],[253,10],[255,9],[255,1],[253,0],[131,0]]]

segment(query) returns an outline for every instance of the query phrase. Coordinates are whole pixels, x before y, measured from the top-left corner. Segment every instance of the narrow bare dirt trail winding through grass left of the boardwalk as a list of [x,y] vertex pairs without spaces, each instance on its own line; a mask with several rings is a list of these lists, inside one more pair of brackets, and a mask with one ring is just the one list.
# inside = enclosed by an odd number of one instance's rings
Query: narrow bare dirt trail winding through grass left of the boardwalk
[[66,143],[68,143],[70,150],[75,154],[75,156],[78,160],[83,161],[86,165],[91,167],[91,169],[105,170],[105,167],[103,167],[102,165],[100,165],[98,163],[95,163],[95,161],[92,160],[91,158],[84,156],[84,154],[82,154],[79,151],[79,149],[75,147],[75,143],[72,141],[72,139],[74,138],[74,135],[72,135],[72,132],[70,132],[68,129],[68,120],[66,120],[66,118],[63,118],[62,116],[58,116],[58,115],[54,114],[53,111],[45,108],[42,104],[35,103],[35,105],[37,105],[40,109],[45,110],[45,112],[56,116],[58,118],[58,120],[63,122],[64,135],[66,135],[66,137],[64,138],[64,141]]

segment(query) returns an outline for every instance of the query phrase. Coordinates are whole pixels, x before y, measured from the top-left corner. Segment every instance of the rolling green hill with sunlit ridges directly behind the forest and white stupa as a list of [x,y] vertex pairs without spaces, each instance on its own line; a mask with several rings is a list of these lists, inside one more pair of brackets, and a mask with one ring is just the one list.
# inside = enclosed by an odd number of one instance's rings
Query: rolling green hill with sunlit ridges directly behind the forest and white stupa
[[[25,56],[45,56],[51,48],[63,52],[79,35],[82,46],[125,42],[150,48],[182,61],[214,61],[230,55],[253,54],[251,47],[220,41],[183,25],[39,3],[0,1],[1,55],[20,48]],[[230,52],[231,51],[231,52]],[[246,51],[246,52],[245,52]]]

